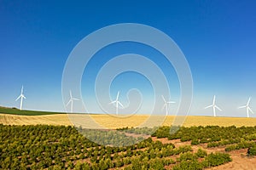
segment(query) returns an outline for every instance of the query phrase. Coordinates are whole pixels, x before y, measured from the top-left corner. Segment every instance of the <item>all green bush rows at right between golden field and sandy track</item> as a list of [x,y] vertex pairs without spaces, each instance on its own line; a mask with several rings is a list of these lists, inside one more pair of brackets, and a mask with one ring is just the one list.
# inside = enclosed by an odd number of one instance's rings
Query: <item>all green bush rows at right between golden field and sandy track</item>
[[208,148],[226,146],[226,151],[248,149],[256,145],[255,127],[160,127],[152,136],[157,138],[180,139],[191,144],[207,144]]

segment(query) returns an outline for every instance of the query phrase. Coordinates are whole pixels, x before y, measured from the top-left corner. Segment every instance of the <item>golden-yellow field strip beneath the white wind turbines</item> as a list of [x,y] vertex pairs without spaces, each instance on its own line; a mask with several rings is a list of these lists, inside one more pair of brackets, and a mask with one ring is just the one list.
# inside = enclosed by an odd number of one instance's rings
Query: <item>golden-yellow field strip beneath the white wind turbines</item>
[[[75,118],[73,118],[75,117]],[[0,123],[8,125],[36,125],[36,124],[48,124],[48,125],[73,125],[71,120],[75,122],[84,121],[86,124],[90,122],[98,122],[102,127],[117,128],[117,127],[137,127],[148,119],[148,116],[130,116],[124,118],[118,118],[109,115],[90,115],[87,118],[81,115],[68,117],[67,115],[47,115],[47,116],[17,116],[0,114]],[[157,119],[157,117],[155,117]],[[79,121],[78,121],[79,120]],[[174,120],[174,116],[167,116],[163,125],[170,126]],[[84,123],[82,122],[82,124]],[[77,125],[77,123],[76,123]],[[256,118],[241,118],[241,117],[212,117],[212,116],[188,116],[183,123],[185,127],[191,126],[256,126]]]

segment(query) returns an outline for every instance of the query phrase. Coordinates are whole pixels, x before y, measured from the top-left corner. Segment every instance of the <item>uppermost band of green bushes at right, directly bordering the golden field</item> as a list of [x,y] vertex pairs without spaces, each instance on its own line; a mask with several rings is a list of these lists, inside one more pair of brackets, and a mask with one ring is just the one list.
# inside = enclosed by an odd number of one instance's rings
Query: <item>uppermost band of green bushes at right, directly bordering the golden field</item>
[[[172,133],[172,129],[178,129]],[[199,143],[218,142],[223,139],[243,138],[256,140],[255,127],[160,127],[152,136],[157,138],[181,139],[182,142],[196,140]]]

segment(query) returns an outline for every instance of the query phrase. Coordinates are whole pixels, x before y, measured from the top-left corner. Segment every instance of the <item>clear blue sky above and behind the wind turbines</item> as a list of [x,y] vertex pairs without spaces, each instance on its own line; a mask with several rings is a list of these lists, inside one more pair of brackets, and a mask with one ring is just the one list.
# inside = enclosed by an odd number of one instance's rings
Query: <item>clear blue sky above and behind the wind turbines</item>
[[[0,105],[19,106],[15,98],[24,85],[27,110],[64,111],[61,77],[68,55],[92,31],[119,23],[140,23],[165,32],[186,56],[194,80],[192,115],[212,115],[203,110],[217,95],[224,110],[220,116],[245,116],[237,111],[248,97],[256,112],[256,3],[255,1],[1,1],[0,2]],[[90,63],[90,71],[102,65],[100,54],[134,53],[148,55],[142,45],[116,44],[119,50],[102,49]],[[150,50],[148,48],[148,50]],[[113,52],[114,51],[114,52]],[[150,55],[151,54],[151,55]],[[160,57],[155,59],[166,75],[172,72]],[[126,75],[127,76],[127,75]],[[123,94],[129,88],[150,86],[135,74],[117,77],[111,88]],[[177,77],[168,75],[172,99],[178,101]],[[141,78],[136,83],[122,82]],[[93,78],[92,78],[93,79]],[[83,78],[83,83],[90,80]],[[88,82],[89,81],[89,82]],[[116,84],[116,85],[115,85]],[[124,86],[125,84],[125,86]],[[90,84],[91,85],[91,84]],[[84,86],[83,86],[84,87]],[[148,90],[145,90],[148,89]],[[82,88],[83,97],[86,90]],[[93,92],[90,91],[90,95]],[[123,103],[127,99],[120,96]],[[146,103],[147,104],[147,103]],[[92,104],[91,104],[92,105]],[[145,111],[147,111],[145,107]],[[174,105],[172,111],[177,109]],[[94,112],[98,112],[97,110]],[[255,115],[254,115],[255,116]]]

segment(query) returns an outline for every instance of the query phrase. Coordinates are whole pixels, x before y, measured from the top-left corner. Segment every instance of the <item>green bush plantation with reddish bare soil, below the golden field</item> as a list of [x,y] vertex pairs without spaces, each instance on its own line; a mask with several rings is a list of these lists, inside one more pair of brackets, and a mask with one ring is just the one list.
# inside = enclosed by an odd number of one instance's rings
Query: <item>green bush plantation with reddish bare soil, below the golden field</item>
[[181,127],[173,134],[170,127],[160,127],[152,137],[125,147],[93,143],[71,126],[0,125],[0,130],[3,169],[205,169],[228,165],[234,150],[244,152],[244,161],[256,154],[256,127]]

